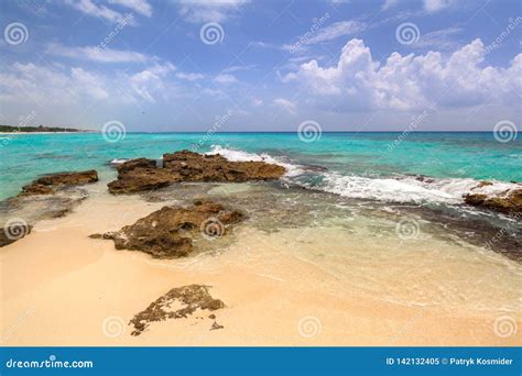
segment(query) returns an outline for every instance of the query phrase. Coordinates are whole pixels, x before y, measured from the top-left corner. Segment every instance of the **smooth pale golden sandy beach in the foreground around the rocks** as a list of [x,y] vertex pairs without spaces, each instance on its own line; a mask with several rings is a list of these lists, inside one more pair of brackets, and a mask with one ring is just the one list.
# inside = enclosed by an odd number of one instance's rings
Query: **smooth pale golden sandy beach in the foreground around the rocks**
[[[461,286],[461,305],[452,305],[453,296],[437,305],[410,305],[404,302],[418,298],[418,291],[428,298],[436,295],[433,278],[447,278],[444,270],[460,267],[460,259],[449,257],[439,268],[432,265],[427,274],[420,265],[418,274],[398,278],[387,273],[387,256],[374,255],[373,265],[370,262],[366,270],[361,269],[369,259],[361,259],[359,252],[373,252],[370,243],[349,243],[351,235],[338,229],[267,233],[248,224],[235,230],[235,241],[226,248],[187,258],[155,259],[141,252],[116,251],[112,242],[88,235],[118,230],[164,203],[148,202],[139,196],[110,196],[105,181],[87,189],[89,197],[72,214],[39,222],[30,235],[0,252],[2,345],[521,343],[520,334],[498,335],[499,318],[509,318],[508,324],[519,328],[522,323],[520,314],[501,311],[513,298],[497,294],[502,284],[519,278],[510,270],[520,272],[520,266],[499,255],[479,259],[466,276],[460,273],[463,280],[446,280],[448,287]],[[401,247],[411,252],[412,263],[424,259],[429,265],[431,257],[438,255],[423,251],[435,245],[427,239]],[[312,256],[304,256],[308,251]],[[354,252],[352,267],[361,274],[340,278],[326,268],[324,258],[336,252]],[[394,269],[392,264],[388,268]],[[372,284],[363,279],[365,274]],[[478,283],[463,284],[475,277]],[[134,314],[170,289],[192,284],[211,286],[210,295],[226,307],[152,322],[141,335],[131,335],[129,321]],[[382,290],[370,292],[374,286]],[[467,295],[480,294],[483,286],[490,291],[467,299]],[[393,291],[402,291],[396,301],[390,299]],[[483,305],[493,309],[485,310]],[[222,329],[210,330],[210,313]]]

